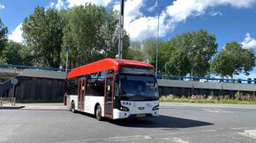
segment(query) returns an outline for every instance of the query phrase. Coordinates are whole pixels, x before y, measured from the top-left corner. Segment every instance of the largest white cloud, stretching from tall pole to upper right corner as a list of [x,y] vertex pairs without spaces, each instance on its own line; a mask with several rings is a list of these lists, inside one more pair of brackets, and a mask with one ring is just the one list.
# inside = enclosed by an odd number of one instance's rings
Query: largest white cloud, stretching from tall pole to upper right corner
[[[157,35],[157,16],[146,17],[141,8],[146,0],[127,0],[124,10],[124,29],[132,40],[143,40]],[[167,6],[160,15],[160,36],[172,32],[176,26],[188,18],[207,13],[208,9],[217,6],[231,6],[237,9],[250,8],[255,0],[176,0]],[[114,10],[119,10],[119,4]],[[222,15],[221,11],[210,13],[212,16]]]

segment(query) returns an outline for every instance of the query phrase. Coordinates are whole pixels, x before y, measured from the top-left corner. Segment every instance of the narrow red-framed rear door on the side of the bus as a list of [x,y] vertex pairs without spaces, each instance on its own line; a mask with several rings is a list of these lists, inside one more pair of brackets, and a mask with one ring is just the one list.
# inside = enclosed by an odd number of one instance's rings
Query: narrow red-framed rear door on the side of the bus
[[86,79],[79,79],[79,111],[85,110]]

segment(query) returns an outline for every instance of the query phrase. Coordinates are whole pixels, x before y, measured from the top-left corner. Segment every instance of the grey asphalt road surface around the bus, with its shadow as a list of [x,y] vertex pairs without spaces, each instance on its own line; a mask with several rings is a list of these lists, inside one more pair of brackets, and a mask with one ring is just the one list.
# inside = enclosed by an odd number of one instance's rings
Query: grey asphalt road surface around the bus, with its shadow
[[160,110],[158,118],[102,122],[61,104],[0,110],[0,142],[256,142],[255,105],[162,103]]

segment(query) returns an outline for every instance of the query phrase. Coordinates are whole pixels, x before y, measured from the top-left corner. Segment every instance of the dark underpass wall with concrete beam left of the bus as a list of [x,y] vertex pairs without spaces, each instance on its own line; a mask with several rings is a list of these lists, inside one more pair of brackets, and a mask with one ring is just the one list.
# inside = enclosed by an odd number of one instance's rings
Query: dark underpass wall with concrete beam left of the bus
[[0,97],[14,97],[19,101],[62,101],[64,95],[65,72],[55,68],[0,68]]

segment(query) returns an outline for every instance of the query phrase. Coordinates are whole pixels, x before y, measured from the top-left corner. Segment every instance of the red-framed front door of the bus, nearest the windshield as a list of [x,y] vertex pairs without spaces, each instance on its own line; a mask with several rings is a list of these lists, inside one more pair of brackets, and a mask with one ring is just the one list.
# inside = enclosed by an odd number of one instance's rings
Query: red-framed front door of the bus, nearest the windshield
[[113,75],[109,75],[105,79],[105,116],[113,117]]

